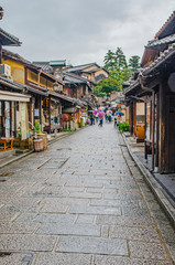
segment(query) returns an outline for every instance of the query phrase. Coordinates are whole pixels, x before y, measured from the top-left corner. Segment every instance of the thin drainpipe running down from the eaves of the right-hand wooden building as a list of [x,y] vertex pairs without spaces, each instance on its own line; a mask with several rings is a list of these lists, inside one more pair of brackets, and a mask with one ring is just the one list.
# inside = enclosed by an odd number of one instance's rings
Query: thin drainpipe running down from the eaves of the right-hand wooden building
[[[155,131],[155,92],[154,92],[154,89],[152,89],[150,87],[145,87],[143,85],[142,73],[140,73],[140,75],[139,75],[139,81],[140,81],[140,84],[141,84],[141,88],[143,91],[150,91],[152,93],[152,97],[153,97],[153,103],[152,103],[152,106],[153,106],[153,109],[152,109],[152,169],[154,170],[154,172],[157,172],[157,167],[154,168],[154,155],[155,155],[155,151],[154,151],[154,142],[155,142],[155,138],[154,138],[154,131]],[[157,145],[157,142],[156,142],[156,145]]]

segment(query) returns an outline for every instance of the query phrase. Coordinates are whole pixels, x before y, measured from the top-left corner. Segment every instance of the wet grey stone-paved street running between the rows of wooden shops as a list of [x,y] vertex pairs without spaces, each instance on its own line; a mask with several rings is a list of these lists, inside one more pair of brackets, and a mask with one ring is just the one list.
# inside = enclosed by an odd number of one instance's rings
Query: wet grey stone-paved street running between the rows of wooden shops
[[0,173],[0,265],[174,264],[175,231],[112,124]]

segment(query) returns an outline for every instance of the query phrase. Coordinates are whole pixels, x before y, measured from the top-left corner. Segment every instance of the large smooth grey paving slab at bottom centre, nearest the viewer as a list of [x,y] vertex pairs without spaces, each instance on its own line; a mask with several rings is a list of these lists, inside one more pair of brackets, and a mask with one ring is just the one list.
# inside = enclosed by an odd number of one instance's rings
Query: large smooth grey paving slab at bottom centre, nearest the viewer
[[56,252],[128,256],[125,240],[61,236]]

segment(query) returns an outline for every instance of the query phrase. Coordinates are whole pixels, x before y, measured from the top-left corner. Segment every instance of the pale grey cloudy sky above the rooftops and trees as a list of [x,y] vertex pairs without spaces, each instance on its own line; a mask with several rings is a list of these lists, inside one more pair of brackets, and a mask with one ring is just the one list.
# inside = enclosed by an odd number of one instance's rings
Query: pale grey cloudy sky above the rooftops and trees
[[142,56],[175,10],[175,0],[1,0],[0,6],[0,28],[22,42],[9,50],[29,61],[102,65],[108,50],[117,46],[127,59]]

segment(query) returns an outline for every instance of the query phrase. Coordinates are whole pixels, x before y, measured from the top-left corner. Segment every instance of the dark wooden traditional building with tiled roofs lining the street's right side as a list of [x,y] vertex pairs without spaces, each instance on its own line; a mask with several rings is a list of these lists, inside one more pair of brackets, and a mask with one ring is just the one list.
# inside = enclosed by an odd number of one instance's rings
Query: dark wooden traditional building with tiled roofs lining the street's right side
[[152,169],[175,172],[175,12],[149,42],[140,68],[124,84],[130,106],[131,131],[135,123],[135,104],[145,106],[145,159],[152,153]]

